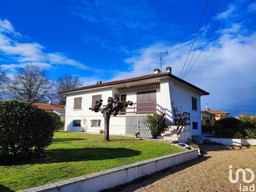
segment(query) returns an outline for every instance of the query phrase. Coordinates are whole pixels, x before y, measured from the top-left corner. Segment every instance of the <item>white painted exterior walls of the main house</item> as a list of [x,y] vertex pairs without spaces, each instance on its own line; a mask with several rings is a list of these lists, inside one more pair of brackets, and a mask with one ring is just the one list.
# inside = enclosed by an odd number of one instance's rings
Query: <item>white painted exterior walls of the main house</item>
[[[99,132],[99,129],[104,129],[104,119],[102,117],[102,113],[95,113],[94,111],[89,110],[92,106],[92,95],[102,95],[103,104],[107,104],[108,97],[114,97],[114,93],[118,93],[116,88],[102,88],[99,90],[86,91],[81,92],[79,94],[67,95],[67,105],[66,105],[66,118],[65,118],[65,130],[66,131],[81,131],[81,127],[73,127],[73,120],[81,120],[81,126],[84,127],[83,118],[86,118],[88,132]],[[118,93],[119,94],[119,93]],[[121,94],[120,94],[121,95]],[[127,100],[131,100],[132,102],[137,101],[136,92],[126,93]],[[82,97],[82,109],[74,110],[74,98]],[[182,84],[174,84],[172,79],[162,79],[160,84],[160,90],[157,90],[156,93],[157,104],[166,108],[166,117],[168,120],[173,123],[172,117],[172,102],[175,107],[178,107],[182,112],[186,111],[190,113],[191,118],[191,134],[192,135],[200,135],[201,131],[201,108],[200,108],[200,95],[188,88],[182,86]],[[192,100],[191,97],[195,97],[197,99],[197,111],[192,111]],[[132,110],[132,109],[131,109]],[[129,111],[129,108],[127,109]],[[111,117],[110,125],[113,128],[113,132],[110,131],[111,134],[124,134],[125,132],[125,120],[122,121],[122,118],[116,118],[116,122],[113,122],[113,118]],[[124,118],[125,119],[125,118]],[[91,120],[101,120],[100,127],[91,127]],[[198,129],[192,129],[193,122],[198,123]]]

